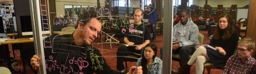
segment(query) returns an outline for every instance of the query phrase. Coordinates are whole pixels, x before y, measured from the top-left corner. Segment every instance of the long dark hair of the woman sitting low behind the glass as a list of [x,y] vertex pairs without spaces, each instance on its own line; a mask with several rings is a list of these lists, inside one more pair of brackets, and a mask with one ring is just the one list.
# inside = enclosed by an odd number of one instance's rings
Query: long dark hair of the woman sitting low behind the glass
[[[146,46],[145,46],[145,48],[146,47],[150,47],[153,51],[154,51],[154,53],[155,53],[155,55],[153,56],[153,60],[156,58],[156,54],[157,54],[157,47],[156,47],[156,44],[153,44],[153,43],[148,43]],[[145,49],[142,51],[142,59],[141,59],[141,62],[140,62],[140,65],[141,65],[141,67],[142,67],[142,71],[143,71],[143,74],[147,74],[148,73],[148,68],[147,68],[147,63],[148,63],[148,61],[147,61],[147,59],[145,58],[145,56],[144,56],[144,51],[145,51]]]

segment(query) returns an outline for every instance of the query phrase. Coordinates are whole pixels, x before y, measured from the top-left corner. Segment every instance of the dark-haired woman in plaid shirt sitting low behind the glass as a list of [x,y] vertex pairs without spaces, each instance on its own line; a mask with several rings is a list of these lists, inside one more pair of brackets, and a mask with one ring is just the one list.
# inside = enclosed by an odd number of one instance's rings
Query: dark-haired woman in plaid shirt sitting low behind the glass
[[143,56],[137,61],[136,66],[142,66],[143,74],[162,74],[162,60],[156,57],[157,47],[153,43],[145,46]]

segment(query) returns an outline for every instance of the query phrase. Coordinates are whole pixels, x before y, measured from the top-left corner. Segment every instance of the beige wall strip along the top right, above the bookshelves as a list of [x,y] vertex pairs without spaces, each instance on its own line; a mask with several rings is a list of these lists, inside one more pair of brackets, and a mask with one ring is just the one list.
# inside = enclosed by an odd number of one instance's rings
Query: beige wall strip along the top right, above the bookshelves
[[[198,6],[204,7],[205,0],[196,0],[196,1]],[[237,5],[237,7],[243,7],[249,4],[249,0],[208,0],[207,4],[212,7],[218,7],[218,5],[223,5],[223,7],[230,7],[231,5]]]

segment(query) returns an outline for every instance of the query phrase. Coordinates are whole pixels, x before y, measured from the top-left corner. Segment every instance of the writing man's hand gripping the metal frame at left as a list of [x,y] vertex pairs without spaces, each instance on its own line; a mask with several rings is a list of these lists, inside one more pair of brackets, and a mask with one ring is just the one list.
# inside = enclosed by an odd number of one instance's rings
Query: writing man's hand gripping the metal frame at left
[[40,60],[40,58],[36,55],[34,55],[33,58],[30,59],[30,64],[34,70],[37,70],[37,67],[39,67],[39,64],[37,62],[38,60]]

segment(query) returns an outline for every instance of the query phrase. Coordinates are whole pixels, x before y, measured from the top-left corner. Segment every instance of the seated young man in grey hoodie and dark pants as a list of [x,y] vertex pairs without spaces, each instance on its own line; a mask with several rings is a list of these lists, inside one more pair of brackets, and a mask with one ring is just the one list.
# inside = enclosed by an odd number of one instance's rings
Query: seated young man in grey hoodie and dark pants
[[[189,56],[195,52],[195,45],[199,44],[198,41],[198,26],[191,20],[187,9],[180,10],[179,12],[180,23],[173,27],[172,40],[181,40],[183,42],[173,43],[172,54],[180,54],[180,66],[189,60]],[[163,58],[163,50],[160,49],[161,59]],[[163,59],[162,59],[163,60]],[[172,69],[177,72],[179,69]]]

